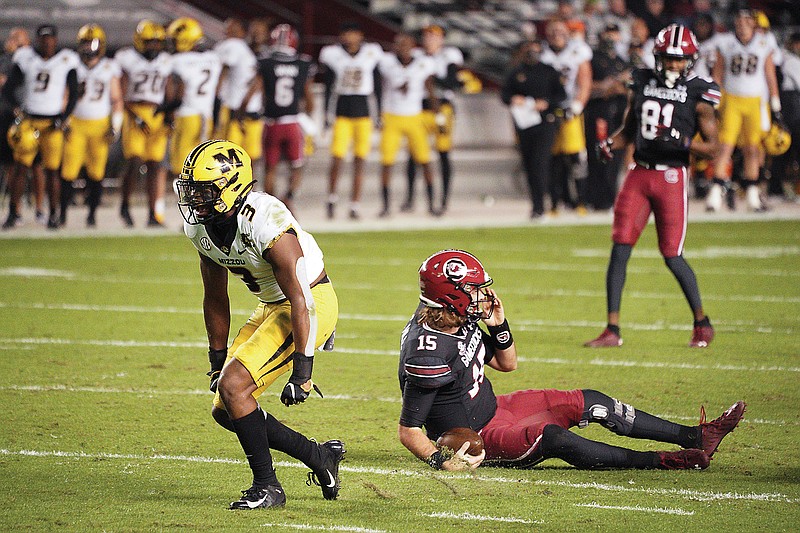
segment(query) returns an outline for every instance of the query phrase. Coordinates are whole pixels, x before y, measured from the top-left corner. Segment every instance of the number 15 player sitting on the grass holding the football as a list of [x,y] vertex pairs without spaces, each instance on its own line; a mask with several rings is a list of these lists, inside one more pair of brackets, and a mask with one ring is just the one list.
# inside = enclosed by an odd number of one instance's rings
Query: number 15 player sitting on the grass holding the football
[[[400,442],[433,468],[463,470],[484,461],[527,468],[557,457],[578,468],[704,469],[742,419],[741,401],[716,420],[705,422],[703,414],[699,425],[683,426],[589,389],[495,396],[486,365],[500,372],[515,370],[517,349],[483,265],[467,252],[444,250],[422,263],[419,279],[421,304],[401,339],[398,433]],[[683,449],[639,452],[569,431],[591,422],[618,435]],[[484,451],[468,455],[465,445],[448,455],[431,441],[456,427],[479,432]]]

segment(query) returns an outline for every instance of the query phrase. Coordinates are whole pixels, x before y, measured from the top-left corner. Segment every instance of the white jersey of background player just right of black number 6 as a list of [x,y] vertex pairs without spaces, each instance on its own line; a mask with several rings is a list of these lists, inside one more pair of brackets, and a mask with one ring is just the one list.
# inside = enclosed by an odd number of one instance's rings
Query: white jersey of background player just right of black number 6
[[339,95],[369,95],[375,91],[372,72],[383,56],[383,48],[363,43],[351,56],[339,44],[328,45],[319,53],[319,62],[336,74],[334,92]]

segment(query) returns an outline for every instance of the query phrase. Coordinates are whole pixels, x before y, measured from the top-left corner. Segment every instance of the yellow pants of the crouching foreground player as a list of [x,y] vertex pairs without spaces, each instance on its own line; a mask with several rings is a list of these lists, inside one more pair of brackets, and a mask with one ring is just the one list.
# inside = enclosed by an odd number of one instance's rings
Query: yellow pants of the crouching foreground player
[[[339,319],[339,301],[331,283],[318,283],[311,288],[317,310],[317,338],[319,348],[330,338]],[[236,359],[250,372],[258,388],[253,398],[259,396],[276,379],[292,368],[295,352],[292,339],[292,305],[288,302],[259,303],[256,310],[236,335],[228,348],[228,358]],[[219,392],[214,396],[214,406],[225,409]]]

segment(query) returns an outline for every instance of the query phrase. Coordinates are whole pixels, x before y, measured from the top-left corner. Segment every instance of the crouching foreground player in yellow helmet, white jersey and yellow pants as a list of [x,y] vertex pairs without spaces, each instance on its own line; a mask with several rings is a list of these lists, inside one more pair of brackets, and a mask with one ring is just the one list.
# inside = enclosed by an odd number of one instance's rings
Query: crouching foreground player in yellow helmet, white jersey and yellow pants
[[[336,292],[314,237],[280,200],[253,192],[253,183],[247,152],[221,140],[192,150],[175,181],[184,232],[200,254],[209,376],[216,393],[212,416],[236,433],[253,471],[251,487],[230,508],[286,503],[270,449],[305,463],[312,470],[309,481],[334,500],[344,444],[307,439],[262,410],[257,399],[290,370],[280,395],[283,404],[305,401],[312,389],[319,392],[311,381],[314,350],[332,349]],[[228,271],[259,300],[230,346]]]

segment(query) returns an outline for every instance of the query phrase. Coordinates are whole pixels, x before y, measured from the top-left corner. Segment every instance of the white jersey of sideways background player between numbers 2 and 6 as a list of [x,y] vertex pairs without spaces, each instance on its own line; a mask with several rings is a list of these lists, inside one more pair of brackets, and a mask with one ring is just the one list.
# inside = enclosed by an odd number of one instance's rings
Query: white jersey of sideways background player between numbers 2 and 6
[[[222,65],[228,67],[228,75],[222,80],[220,99],[228,109],[239,109],[247,87],[256,75],[256,55],[247,46],[244,39],[230,37],[220,41],[214,47]],[[258,113],[261,110],[261,97],[254,95],[250,99],[246,111]]]

